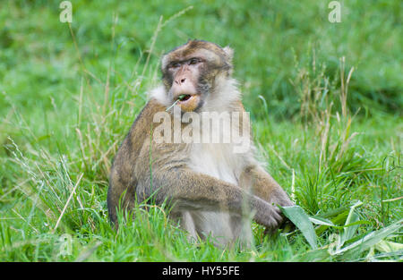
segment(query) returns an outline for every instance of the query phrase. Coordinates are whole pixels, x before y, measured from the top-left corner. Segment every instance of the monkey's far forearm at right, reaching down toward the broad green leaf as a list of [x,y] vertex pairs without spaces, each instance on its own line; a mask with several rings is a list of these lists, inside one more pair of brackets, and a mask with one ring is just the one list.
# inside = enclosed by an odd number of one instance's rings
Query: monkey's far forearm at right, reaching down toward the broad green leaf
[[250,188],[254,195],[270,203],[280,206],[294,205],[286,191],[259,165],[244,168],[240,183],[243,188]]

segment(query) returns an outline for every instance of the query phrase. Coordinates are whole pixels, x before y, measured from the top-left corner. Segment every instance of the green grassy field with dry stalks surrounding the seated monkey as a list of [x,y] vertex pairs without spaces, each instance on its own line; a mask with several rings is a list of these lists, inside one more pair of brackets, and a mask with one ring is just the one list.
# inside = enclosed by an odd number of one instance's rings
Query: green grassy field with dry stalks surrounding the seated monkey
[[[403,259],[400,1],[0,3],[1,261]],[[188,38],[235,49],[267,170],[313,222],[250,250],[189,243],[167,209],[107,219],[116,150]],[[347,226],[346,226],[347,225]]]

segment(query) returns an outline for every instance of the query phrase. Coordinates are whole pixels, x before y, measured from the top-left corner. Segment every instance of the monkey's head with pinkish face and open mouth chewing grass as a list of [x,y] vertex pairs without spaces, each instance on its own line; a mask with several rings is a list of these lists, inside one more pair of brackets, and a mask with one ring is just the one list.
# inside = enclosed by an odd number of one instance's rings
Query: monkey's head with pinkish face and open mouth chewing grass
[[[170,102],[197,111],[232,72],[233,50],[203,40],[189,40],[161,59],[162,80]],[[179,99],[179,100],[178,100]]]

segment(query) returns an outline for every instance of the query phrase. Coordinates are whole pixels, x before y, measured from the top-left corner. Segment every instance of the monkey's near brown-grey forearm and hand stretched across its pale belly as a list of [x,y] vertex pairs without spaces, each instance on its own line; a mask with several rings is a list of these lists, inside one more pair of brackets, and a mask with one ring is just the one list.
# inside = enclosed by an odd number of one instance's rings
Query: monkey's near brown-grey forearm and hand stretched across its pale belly
[[[253,210],[253,219],[270,228],[277,227],[282,221],[279,208],[234,184],[195,173],[188,168],[173,168],[168,175],[166,172],[153,172],[152,185],[154,191],[158,190],[155,198],[157,203],[168,199],[179,210],[227,211],[240,216],[246,216],[249,210]],[[138,198],[144,194],[147,197],[150,193],[150,173],[148,176],[139,176]]]

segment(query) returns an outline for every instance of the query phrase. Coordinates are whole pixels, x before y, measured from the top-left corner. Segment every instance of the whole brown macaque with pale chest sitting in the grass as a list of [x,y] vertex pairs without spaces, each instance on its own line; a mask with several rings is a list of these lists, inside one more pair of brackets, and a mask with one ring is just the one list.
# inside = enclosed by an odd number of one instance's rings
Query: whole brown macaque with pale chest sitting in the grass
[[[279,227],[278,205],[293,202],[255,159],[232,58],[230,47],[203,40],[162,56],[162,84],[150,91],[114,159],[107,193],[114,224],[117,208],[130,210],[152,194],[155,203],[172,203],[171,217],[191,237],[211,235],[219,245],[250,244],[251,217],[270,230]],[[218,119],[230,125],[210,125]],[[233,134],[238,137],[228,140]]]

